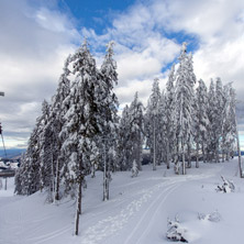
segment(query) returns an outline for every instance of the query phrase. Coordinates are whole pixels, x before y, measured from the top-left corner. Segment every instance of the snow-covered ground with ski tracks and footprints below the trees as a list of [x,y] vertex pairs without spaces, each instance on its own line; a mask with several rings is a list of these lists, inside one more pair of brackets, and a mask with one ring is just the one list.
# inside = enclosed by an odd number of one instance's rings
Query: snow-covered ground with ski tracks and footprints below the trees
[[[235,184],[235,192],[217,192],[221,175]],[[115,173],[110,200],[102,199],[102,175],[87,178],[79,236],[74,233],[74,201],[45,202],[46,195],[13,196],[13,178],[0,190],[1,244],[159,244],[166,240],[167,219],[177,217],[189,243],[244,243],[244,179],[237,159],[200,164],[186,176],[165,166],[144,166],[138,177]],[[199,215],[218,213],[215,221]]]

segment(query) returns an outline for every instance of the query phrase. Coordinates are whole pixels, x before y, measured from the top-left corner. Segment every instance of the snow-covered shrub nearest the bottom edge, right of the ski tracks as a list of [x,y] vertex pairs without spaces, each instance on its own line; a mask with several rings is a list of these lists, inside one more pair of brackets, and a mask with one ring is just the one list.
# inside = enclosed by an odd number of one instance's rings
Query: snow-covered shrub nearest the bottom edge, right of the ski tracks
[[166,237],[174,242],[186,242],[187,230],[180,226],[179,220],[175,218],[175,221],[168,219],[168,231],[166,233]]

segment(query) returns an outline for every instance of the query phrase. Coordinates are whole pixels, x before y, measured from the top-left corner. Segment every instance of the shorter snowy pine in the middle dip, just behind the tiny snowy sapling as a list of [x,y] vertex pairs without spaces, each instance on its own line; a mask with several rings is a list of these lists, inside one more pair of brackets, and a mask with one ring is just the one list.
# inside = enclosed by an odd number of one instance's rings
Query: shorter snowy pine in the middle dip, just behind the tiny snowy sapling
[[130,162],[137,165],[138,170],[142,170],[142,148],[143,148],[143,104],[138,101],[138,95],[135,92],[134,100],[130,109],[130,144],[131,157]]

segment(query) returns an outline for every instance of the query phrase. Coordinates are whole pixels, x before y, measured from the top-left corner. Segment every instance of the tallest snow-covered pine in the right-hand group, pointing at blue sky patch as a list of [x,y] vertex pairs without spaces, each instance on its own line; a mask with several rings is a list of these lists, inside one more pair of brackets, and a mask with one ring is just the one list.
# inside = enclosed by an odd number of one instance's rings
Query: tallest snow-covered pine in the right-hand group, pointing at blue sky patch
[[[186,174],[186,149],[190,157],[192,140],[192,103],[196,76],[192,67],[192,56],[187,55],[187,44],[184,43],[179,57],[179,68],[176,74],[176,137],[178,157],[182,160],[182,174]],[[187,145],[187,146],[186,146]],[[187,147],[187,148],[186,148]],[[176,167],[178,168],[178,167]]]

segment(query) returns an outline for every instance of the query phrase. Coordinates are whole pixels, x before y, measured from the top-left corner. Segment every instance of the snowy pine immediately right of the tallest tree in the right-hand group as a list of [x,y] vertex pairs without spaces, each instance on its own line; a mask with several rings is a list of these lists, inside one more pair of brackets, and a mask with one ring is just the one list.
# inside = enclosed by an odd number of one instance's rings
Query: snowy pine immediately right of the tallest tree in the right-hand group
[[207,147],[207,130],[209,119],[207,114],[208,109],[208,91],[206,84],[200,79],[196,91],[196,101],[193,104],[193,141],[196,143],[196,167],[199,167],[199,151],[201,149],[203,162],[206,162]]

